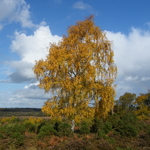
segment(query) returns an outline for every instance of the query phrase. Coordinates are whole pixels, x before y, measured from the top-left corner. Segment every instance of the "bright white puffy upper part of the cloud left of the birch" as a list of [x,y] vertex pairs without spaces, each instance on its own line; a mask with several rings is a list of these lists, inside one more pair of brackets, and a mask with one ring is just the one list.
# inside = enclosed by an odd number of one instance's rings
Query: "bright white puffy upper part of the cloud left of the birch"
[[61,37],[52,35],[48,26],[39,27],[33,35],[15,32],[15,39],[12,41],[12,51],[19,54],[22,61],[35,63],[35,60],[45,58],[48,54],[50,42],[58,42]]

